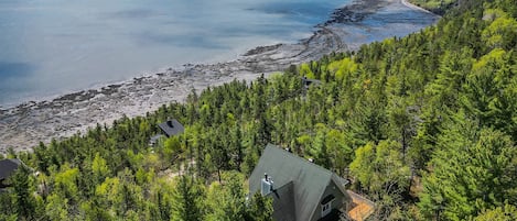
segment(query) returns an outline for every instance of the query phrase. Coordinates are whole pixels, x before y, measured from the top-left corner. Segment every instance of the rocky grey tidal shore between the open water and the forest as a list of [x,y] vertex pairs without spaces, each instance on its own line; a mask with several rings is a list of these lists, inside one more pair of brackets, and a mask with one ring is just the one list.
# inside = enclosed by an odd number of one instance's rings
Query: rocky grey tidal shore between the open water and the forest
[[[316,25],[311,37],[297,44],[257,47],[226,63],[184,65],[118,85],[0,110],[0,153],[8,147],[30,151],[40,141],[47,143],[97,123],[110,124],[122,115],[143,115],[171,101],[182,102],[192,90],[233,79],[252,80],[334,51],[353,51],[396,33],[414,32],[438,19],[417,10],[408,10],[400,0],[355,1],[335,10],[327,22]],[[381,26],[378,21],[383,21]]]

